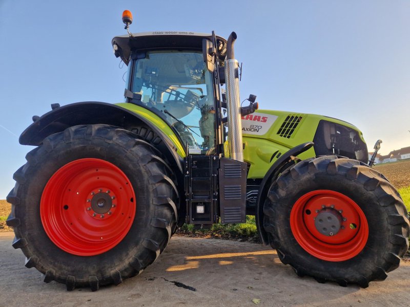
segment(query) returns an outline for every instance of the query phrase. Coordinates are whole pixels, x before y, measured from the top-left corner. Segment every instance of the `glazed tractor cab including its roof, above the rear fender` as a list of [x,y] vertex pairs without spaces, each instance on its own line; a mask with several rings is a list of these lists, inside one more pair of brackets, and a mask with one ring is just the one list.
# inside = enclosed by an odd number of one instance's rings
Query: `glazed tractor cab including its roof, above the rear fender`
[[[162,118],[187,153],[218,153],[219,82],[204,61],[203,41],[216,41],[219,59],[227,41],[194,32],[148,32],[114,37],[114,54],[129,67],[126,102]],[[205,43],[206,46],[206,43]],[[220,63],[221,64],[221,63]],[[218,139],[219,137],[219,139]]]

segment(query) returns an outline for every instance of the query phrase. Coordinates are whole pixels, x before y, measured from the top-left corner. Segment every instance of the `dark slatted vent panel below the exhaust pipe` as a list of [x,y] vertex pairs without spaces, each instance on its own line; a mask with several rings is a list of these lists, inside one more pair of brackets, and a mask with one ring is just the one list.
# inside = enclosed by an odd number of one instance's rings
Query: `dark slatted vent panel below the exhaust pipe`
[[220,159],[219,202],[221,223],[244,223],[246,219],[247,164]]

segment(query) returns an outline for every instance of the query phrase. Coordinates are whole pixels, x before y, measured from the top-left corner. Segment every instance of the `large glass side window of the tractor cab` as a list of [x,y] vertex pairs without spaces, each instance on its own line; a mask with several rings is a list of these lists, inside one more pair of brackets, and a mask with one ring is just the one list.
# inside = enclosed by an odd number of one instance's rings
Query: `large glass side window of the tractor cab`
[[191,154],[215,153],[212,74],[201,52],[151,51],[134,60],[131,91],[161,113]]

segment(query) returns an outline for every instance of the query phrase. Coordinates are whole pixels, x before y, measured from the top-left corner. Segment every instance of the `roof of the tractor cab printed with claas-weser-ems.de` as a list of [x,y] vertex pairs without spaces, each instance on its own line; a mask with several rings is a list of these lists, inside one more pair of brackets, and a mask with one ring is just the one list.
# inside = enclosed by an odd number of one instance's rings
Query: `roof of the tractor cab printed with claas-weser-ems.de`
[[[212,34],[183,31],[153,31],[115,36],[112,46],[116,57],[128,65],[131,53],[152,49],[196,49],[202,50],[202,39],[212,41]],[[216,36],[219,58],[223,60],[227,50],[227,40]],[[117,47],[115,47],[115,46]],[[115,50],[117,49],[117,50]]]

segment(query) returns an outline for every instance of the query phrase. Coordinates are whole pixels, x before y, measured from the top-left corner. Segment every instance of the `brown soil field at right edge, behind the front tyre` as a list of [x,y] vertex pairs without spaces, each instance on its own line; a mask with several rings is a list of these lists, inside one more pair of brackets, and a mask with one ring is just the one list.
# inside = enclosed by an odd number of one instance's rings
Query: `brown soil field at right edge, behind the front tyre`
[[381,163],[374,167],[390,181],[396,189],[410,186],[410,159],[393,163]]

